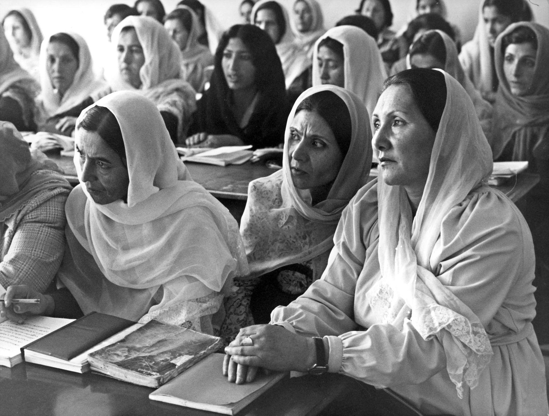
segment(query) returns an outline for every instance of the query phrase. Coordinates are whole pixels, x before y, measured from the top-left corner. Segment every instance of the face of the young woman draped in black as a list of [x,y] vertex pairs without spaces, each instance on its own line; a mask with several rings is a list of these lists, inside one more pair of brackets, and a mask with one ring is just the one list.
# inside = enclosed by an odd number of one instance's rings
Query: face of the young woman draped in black
[[255,66],[250,51],[238,37],[229,39],[221,59],[223,75],[229,89],[242,91],[255,88]]

